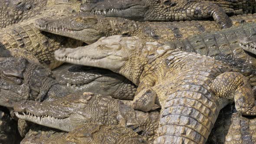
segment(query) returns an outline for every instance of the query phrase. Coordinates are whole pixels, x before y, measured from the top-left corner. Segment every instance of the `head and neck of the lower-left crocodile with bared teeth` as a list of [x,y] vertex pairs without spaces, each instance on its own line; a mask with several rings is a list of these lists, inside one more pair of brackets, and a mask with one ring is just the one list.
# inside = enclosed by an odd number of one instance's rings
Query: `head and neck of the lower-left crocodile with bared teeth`
[[118,100],[93,95],[74,93],[55,101],[21,101],[14,105],[15,115],[26,121],[72,131],[87,123],[117,124]]

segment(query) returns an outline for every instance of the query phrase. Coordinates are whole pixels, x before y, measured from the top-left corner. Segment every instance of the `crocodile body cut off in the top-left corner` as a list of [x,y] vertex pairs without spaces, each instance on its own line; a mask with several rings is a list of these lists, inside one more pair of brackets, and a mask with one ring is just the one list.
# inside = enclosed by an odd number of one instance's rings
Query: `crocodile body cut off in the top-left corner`
[[42,13],[49,7],[68,4],[79,10],[80,0],[1,0],[0,1],[0,29],[15,23],[29,20]]

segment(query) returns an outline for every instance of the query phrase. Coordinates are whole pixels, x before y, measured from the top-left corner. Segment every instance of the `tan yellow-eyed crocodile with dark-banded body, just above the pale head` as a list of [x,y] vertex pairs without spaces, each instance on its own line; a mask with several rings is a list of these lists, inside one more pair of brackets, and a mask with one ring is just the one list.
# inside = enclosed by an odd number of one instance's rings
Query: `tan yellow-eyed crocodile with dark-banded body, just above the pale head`
[[[256,14],[231,16],[233,25],[255,22]],[[122,18],[97,16],[88,13],[77,13],[58,20],[39,19],[35,22],[42,31],[67,36],[91,44],[102,36],[128,35],[138,36],[148,41],[174,41],[190,35],[217,31],[220,28],[211,21],[181,22],[135,22]]]

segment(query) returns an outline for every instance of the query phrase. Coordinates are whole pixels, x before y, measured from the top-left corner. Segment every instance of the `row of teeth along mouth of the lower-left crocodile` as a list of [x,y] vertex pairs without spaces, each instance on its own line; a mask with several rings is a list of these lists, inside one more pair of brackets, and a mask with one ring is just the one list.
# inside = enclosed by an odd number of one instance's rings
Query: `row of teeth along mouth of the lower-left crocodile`
[[47,120],[62,120],[64,118],[55,118],[53,116],[50,116],[50,115],[40,115],[40,116],[37,116],[37,115],[34,115],[32,113],[29,113],[29,112],[15,112],[15,115],[16,117],[18,118],[22,118],[22,119],[35,119],[37,121],[43,121],[44,119],[47,119]]

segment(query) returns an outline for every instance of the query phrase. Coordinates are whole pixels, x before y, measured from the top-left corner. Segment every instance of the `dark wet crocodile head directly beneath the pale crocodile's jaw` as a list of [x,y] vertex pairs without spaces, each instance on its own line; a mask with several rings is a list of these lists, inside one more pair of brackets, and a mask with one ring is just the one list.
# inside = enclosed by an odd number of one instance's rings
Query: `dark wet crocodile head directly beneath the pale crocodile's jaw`
[[53,70],[53,75],[70,93],[92,92],[132,100],[137,90],[131,81],[108,69],[63,64]]

